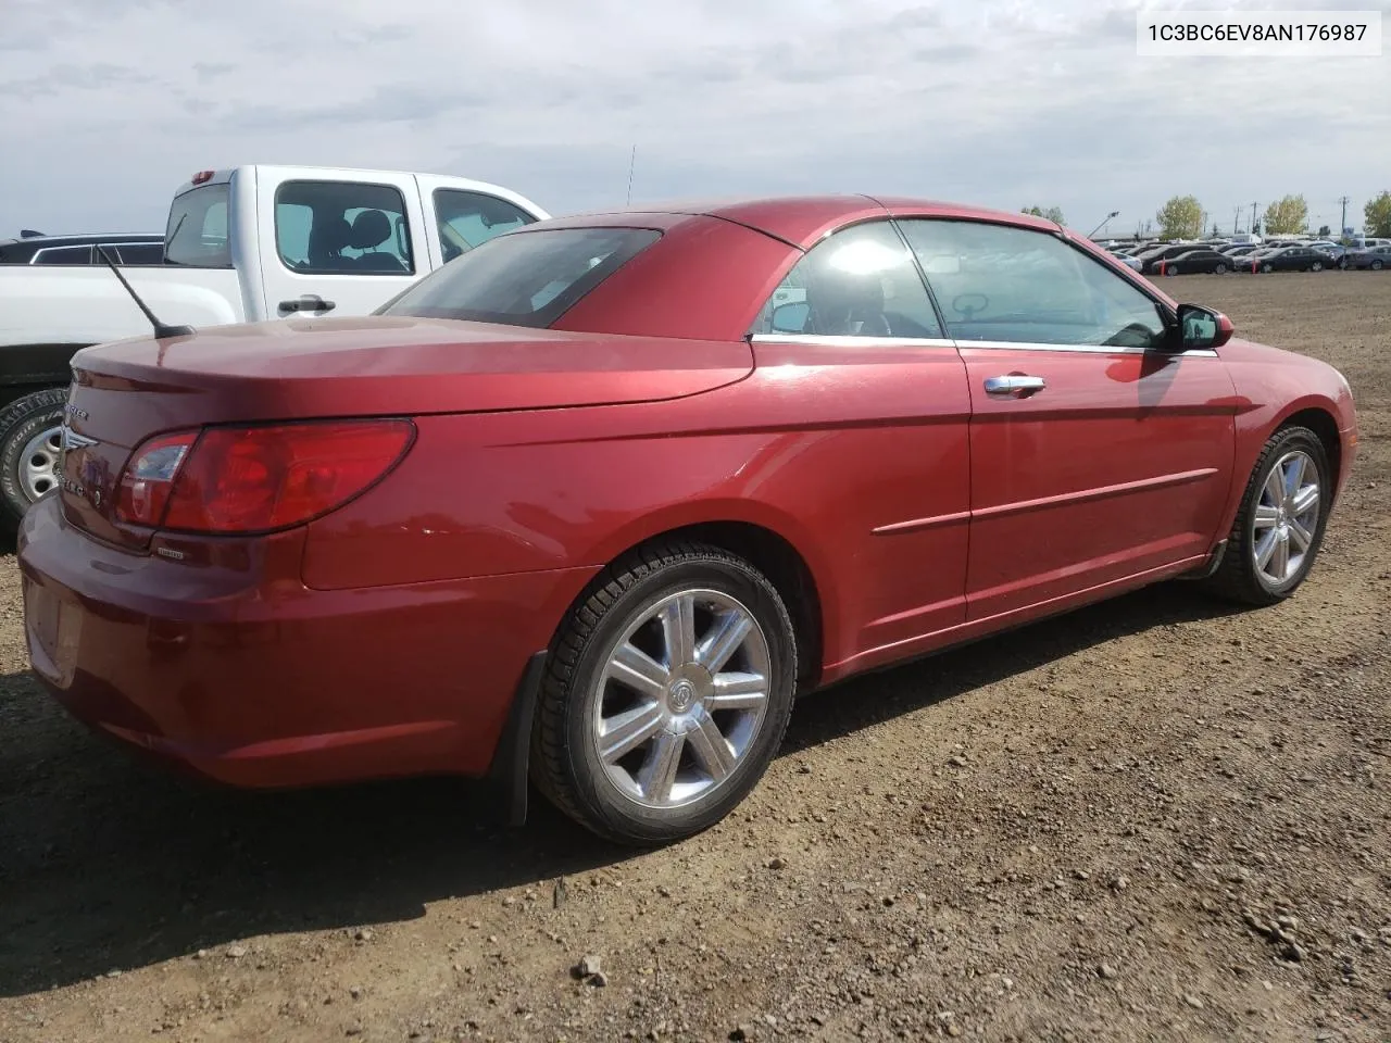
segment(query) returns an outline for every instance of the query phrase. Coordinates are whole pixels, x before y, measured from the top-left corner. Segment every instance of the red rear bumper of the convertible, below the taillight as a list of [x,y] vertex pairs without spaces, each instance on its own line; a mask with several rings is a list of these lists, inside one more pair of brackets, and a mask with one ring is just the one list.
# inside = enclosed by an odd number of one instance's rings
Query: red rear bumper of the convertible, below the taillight
[[529,659],[593,569],[320,591],[305,533],[213,566],[19,533],[35,673],[79,720],[235,786],[484,776]]

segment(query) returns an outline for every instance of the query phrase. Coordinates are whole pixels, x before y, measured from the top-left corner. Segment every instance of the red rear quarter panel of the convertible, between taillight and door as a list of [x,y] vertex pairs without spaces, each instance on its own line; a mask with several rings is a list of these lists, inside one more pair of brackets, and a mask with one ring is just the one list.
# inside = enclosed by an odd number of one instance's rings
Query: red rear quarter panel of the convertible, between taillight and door
[[964,615],[968,392],[950,349],[917,382],[892,356],[765,364],[668,402],[419,417],[403,464],[310,526],[305,581],[602,566],[675,528],[743,522],[807,563],[825,663],[950,626]]

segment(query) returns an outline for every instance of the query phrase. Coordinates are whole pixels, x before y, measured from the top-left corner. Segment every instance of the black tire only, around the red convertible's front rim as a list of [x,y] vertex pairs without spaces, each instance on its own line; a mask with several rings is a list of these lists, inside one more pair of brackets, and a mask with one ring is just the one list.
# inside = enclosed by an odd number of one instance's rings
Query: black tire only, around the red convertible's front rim
[[[1319,473],[1319,522],[1313,531],[1313,541],[1305,552],[1303,562],[1292,577],[1281,584],[1273,584],[1260,573],[1252,560],[1255,549],[1255,510],[1260,503],[1262,487],[1270,476],[1276,463],[1288,452],[1299,449],[1309,455]],[[1284,427],[1276,431],[1246,481],[1246,490],[1241,496],[1241,508],[1227,537],[1227,551],[1223,553],[1217,572],[1205,581],[1209,592],[1245,605],[1274,605],[1294,594],[1309,576],[1313,563],[1323,545],[1323,531],[1328,522],[1330,496],[1333,495],[1333,474],[1328,469],[1328,455],[1323,442],[1308,427]]]

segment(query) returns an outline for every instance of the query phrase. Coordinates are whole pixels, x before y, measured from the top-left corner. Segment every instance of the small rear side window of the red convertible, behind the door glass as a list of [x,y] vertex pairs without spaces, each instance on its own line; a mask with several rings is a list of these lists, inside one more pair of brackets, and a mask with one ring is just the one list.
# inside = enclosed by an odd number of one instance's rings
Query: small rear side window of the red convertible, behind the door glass
[[938,338],[942,327],[912,253],[885,220],[812,246],[764,305],[753,332]]

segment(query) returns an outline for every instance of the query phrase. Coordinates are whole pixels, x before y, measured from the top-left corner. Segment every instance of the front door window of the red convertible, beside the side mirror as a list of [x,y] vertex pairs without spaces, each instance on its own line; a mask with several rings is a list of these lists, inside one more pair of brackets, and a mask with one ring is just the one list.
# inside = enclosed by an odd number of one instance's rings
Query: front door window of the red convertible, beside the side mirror
[[900,221],[958,341],[1153,348],[1159,305],[1047,232],[985,221]]

